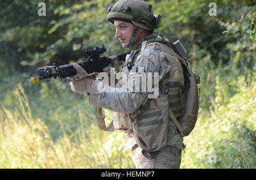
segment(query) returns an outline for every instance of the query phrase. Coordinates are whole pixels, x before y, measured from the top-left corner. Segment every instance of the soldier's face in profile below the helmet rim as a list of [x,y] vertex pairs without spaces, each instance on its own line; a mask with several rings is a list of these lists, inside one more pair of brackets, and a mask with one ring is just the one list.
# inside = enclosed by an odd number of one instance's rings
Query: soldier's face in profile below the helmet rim
[[115,20],[114,26],[115,37],[119,38],[119,41],[122,43],[122,45],[129,42],[133,33],[134,25],[131,23],[123,22],[121,20]]

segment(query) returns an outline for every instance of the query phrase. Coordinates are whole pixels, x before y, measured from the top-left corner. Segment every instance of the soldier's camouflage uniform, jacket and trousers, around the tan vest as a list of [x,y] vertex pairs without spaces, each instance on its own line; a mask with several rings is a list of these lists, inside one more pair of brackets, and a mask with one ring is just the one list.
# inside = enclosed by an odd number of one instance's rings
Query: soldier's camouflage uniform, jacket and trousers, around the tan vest
[[[148,36],[147,39],[158,37],[156,33]],[[141,46],[143,42],[139,41],[137,44],[133,45],[132,48]],[[150,45],[150,44],[149,44]],[[129,55],[127,55],[126,62],[123,63],[127,65],[129,61]],[[176,57],[173,57],[175,61],[178,61]],[[143,67],[143,71],[140,67]],[[135,58],[134,66],[131,68],[131,72],[159,72],[159,82],[162,82],[166,76],[172,71],[172,75],[177,72],[171,66],[170,62],[166,58],[166,55],[160,50],[153,48],[146,48],[139,51],[137,58]],[[137,70],[136,70],[137,69]],[[127,66],[123,66],[121,73],[128,73],[129,70]],[[181,71],[182,72],[182,71]],[[183,76],[178,76],[182,82]],[[177,79],[176,79],[177,80]],[[128,80],[129,82],[130,80]],[[141,82],[140,82],[141,83]],[[129,84],[129,83],[127,83]],[[93,87],[98,84],[94,83]],[[105,85],[106,86],[106,85]],[[126,86],[127,88],[127,86]],[[89,103],[91,105],[97,105],[105,109],[113,111],[113,122],[115,129],[123,130],[127,132],[125,150],[132,148],[132,159],[137,168],[179,168],[181,161],[181,149],[183,149],[183,138],[177,134],[177,128],[174,122],[169,119],[168,121],[168,145],[159,151],[148,152],[143,151],[141,147],[137,145],[134,138],[131,121],[131,114],[138,112],[143,106],[147,104],[148,92],[129,92],[123,91],[118,92],[117,88],[114,88],[115,92],[101,92],[101,93],[90,93]],[[96,91],[94,91],[96,92]],[[159,96],[161,95],[161,92]],[[157,100],[157,99],[156,99]],[[130,119],[131,118],[131,119]],[[154,117],[152,117],[154,119]],[[155,117],[156,118],[156,117]],[[156,139],[157,140],[157,139]]]

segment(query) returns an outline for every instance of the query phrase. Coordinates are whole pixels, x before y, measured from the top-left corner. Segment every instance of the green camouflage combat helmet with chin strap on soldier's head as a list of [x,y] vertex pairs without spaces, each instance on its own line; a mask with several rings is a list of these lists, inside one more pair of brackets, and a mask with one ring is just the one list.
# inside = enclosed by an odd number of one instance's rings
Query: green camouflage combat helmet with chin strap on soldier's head
[[124,48],[129,48],[134,42],[138,27],[154,31],[159,27],[162,15],[153,15],[152,5],[148,5],[141,0],[120,0],[113,7],[109,7],[107,19],[114,23],[114,20],[123,20],[133,23],[134,31],[130,42],[123,45]]

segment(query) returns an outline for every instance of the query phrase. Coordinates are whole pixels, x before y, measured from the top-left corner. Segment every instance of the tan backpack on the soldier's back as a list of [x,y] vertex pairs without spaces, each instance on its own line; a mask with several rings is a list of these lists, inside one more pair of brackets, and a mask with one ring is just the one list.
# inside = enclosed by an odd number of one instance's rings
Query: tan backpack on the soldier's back
[[177,119],[172,110],[169,108],[169,115],[172,121],[174,121],[176,127],[179,129],[180,136],[188,136],[196,125],[200,105],[200,88],[197,87],[197,84],[200,84],[200,76],[196,72],[193,72],[191,68],[191,63],[195,60],[196,54],[192,53],[191,57],[187,61],[187,59],[184,58],[187,51],[184,49],[180,40],[172,42],[168,38],[160,36],[151,40],[151,42],[154,41],[162,42],[171,46],[175,51],[175,54],[172,55],[178,58],[181,63],[185,85],[182,95],[184,97],[181,97],[184,100],[181,100],[184,102],[184,105],[181,105],[183,106],[183,114],[181,114],[181,116]]

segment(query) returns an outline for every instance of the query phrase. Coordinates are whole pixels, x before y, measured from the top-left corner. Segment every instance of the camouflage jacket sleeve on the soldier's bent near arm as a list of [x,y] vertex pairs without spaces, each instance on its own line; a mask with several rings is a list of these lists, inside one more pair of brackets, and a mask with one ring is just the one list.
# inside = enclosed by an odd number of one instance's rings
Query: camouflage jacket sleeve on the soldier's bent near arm
[[[117,87],[117,85],[110,87],[96,81],[92,88],[95,89],[97,85],[104,90],[100,93],[97,91],[90,93],[89,103],[115,112],[133,113],[147,101],[150,95],[148,88],[143,87],[146,82],[143,77],[151,74],[152,78],[147,79],[147,84],[151,81],[154,85],[154,82],[158,83],[158,80],[162,80],[168,71],[170,71],[170,64],[163,53],[151,48],[144,49],[135,59],[127,79],[122,77],[122,83],[125,83],[123,87]],[[157,91],[158,95],[159,90],[154,87],[154,91]]]

